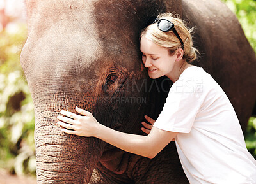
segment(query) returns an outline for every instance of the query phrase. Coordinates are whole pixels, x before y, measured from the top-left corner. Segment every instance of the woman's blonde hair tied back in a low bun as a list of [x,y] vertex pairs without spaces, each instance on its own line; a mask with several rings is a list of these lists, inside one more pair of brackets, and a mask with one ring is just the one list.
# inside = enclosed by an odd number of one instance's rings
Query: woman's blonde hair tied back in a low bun
[[[194,29],[189,29],[184,21],[179,18],[179,15],[172,15],[172,13],[161,13],[157,16],[157,18],[164,18],[166,20],[170,20],[174,24],[176,31],[178,32],[180,38],[184,43],[184,55],[183,58],[187,62],[192,62],[196,59],[196,53],[199,54],[198,50],[193,47],[193,41],[191,33]],[[158,29],[157,24],[150,24],[148,27],[141,31],[141,36],[145,36],[150,41],[153,41],[159,46],[167,48],[172,55],[175,50],[181,48],[181,43],[177,36],[173,33],[173,31],[163,32]],[[140,36],[140,37],[141,37]]]

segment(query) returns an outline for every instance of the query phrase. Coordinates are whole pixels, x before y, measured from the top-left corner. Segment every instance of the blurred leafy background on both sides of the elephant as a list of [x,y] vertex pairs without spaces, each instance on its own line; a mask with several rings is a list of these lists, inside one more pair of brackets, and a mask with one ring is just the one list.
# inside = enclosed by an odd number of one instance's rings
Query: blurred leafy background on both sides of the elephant
[[[236,14],[256,52],[256,0],[222,1]],[[0,0],[0,184],[12,183],[7,176],[11,181],[14,176],[35,178],[36,175],[35,115],[19,62],[26,34],[24,1]],[[248,122],[245,139],[248,150],[256,158],[256,115]],[[31,182],[35,183],[35,179]]]

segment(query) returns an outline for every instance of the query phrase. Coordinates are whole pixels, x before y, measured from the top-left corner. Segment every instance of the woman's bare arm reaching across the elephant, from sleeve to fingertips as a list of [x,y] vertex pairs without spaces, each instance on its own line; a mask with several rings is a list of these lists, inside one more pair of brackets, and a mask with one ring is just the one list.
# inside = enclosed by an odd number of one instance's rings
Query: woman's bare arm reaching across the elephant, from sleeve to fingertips
[[79,108],[76,108],[76,111],[84,116],[61,111],[61,114],[67,117],[57,117],[58,120],[61,120],[58,124],[63,127],[63,132],[78,136],[93,136],[126,152],[148,158],[155,157],[157,153],[161,152],[177,136],[177,132],[163,131],[156,127],[153,127],[147,136],[126,134],[99,124],[92,113],[88,111]]

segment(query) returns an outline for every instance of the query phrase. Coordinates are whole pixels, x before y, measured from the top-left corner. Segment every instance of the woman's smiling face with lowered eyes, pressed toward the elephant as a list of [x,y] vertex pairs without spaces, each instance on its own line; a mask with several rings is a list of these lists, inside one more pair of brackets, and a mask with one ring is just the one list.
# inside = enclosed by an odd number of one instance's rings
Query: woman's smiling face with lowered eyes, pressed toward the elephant
[[171,56],[167,48],[157,45],[145,36],[141,37],[140,50],[142,62],[148,69],[150,78],[159,78],[164,75],[170,78],[176,60],[175,54]]

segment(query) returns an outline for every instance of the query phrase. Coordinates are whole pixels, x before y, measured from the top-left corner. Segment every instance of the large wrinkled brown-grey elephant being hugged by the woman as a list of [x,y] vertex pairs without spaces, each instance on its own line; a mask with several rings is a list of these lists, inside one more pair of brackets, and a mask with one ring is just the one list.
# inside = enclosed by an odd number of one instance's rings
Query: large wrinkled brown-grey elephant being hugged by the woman
[[193,36],[202,55],[195,64],[220,83],[246,127],[255,102],[255,53],[220,1],[26,4],[28,39],[20,61],[35,104],[38,183],[88,183],[91,176],[90,183],[188,183],[173,143],[147,159],[97,138],[64,134],[56,124],[60,110],[79,106],[101,124],[142,134],[143,115],[156,118],[168,91],[163,78],[151,85],[138,41],[147,19],[159,12],[175,11],[196,25]]

